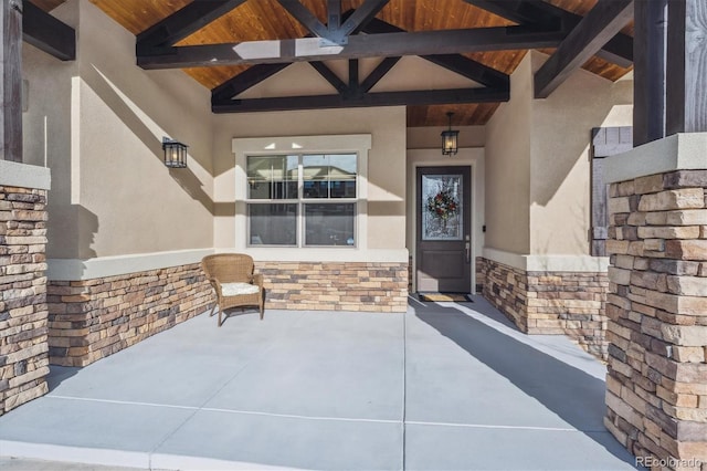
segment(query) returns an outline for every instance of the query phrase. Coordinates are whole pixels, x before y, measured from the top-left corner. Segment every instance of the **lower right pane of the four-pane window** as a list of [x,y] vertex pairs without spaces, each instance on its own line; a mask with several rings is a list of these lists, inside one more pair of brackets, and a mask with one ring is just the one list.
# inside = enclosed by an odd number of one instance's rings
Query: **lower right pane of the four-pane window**
[[354,247],[355,203],[305,205],[306,245]]

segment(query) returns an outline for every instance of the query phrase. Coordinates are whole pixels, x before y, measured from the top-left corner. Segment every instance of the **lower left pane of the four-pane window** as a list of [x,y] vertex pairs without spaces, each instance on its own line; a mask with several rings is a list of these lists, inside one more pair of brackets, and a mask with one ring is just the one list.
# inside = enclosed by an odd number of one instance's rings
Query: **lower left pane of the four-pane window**
[[249,205],[251,245],[297,245],[297,205]]

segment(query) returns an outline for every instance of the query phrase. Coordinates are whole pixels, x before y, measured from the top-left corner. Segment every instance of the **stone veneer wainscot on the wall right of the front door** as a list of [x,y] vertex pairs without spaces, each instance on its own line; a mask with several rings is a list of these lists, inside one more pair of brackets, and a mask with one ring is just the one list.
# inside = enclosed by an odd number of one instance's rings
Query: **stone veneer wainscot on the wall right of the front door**
[[567,335],[606,358],[606,273],[526,272],[483,259],[484,297],[527,334]]

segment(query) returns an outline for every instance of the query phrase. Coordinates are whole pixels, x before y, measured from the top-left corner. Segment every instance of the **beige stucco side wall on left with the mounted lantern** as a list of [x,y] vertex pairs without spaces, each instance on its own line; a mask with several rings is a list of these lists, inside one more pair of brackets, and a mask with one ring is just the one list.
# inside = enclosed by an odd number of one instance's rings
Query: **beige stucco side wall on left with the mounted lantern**
[[[209,91],[179,71],[138,69],[135,36],[88,0],[54,14],[77,30],[77,61],[28,48],[24,69],[31,96],[41,96],[25,118],[29,159],[43,158],[42,115],[51,123],[49,257],[212,247]],[[190,146],[188,169],[162,165],[162,136]]]

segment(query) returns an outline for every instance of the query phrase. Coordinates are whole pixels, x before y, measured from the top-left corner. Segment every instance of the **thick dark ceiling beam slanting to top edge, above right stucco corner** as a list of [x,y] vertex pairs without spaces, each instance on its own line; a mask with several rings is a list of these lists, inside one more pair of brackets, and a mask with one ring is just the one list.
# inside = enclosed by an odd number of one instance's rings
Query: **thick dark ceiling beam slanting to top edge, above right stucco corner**
[[599,0],[535,73],[535,97],[547,98],[633,18],[633,0]]

